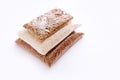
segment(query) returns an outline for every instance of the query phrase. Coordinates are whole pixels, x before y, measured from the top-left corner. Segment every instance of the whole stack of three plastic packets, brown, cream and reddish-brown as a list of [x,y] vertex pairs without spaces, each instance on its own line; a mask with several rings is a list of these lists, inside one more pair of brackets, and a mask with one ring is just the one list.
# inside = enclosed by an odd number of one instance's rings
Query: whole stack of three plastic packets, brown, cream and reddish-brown
[[72,19],[61,9],[50,10],[26,23],[16,43],[51,66],[83,36],[74,31],[79,25],[72,23]]

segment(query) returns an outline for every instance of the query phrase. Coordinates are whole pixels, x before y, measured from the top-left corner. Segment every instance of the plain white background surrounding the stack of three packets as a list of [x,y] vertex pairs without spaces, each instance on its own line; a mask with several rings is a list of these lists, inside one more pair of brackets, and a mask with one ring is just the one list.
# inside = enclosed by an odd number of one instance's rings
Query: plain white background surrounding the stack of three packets
[[[48,68],[14,41],[24,23],[56,7],[85,35]],[[0,0],[0,80],[120,80],[120,0]]]

